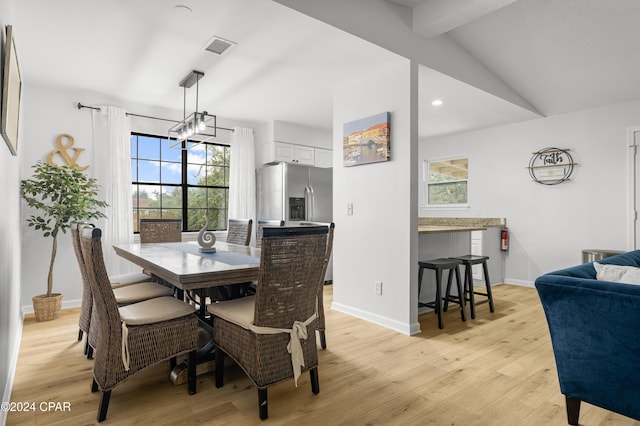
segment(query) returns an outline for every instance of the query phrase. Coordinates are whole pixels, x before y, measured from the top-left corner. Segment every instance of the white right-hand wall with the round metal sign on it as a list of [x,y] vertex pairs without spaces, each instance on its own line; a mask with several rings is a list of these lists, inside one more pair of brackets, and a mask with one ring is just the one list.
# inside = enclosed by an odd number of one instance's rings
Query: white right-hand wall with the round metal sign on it
[[[426,123],[425,125],[428,125]],[[420,216],[505,217],[511,232],[505,281],[531,286],[545,272],[577,264],[583,249],[626,250],[628,127],[640,125],[640,101],[420,142],[420,160],[469,157],[468,211]],[[571,180],[531,180],[532,153],[570,148]],[[422,186],[422,182],[420,186]]]

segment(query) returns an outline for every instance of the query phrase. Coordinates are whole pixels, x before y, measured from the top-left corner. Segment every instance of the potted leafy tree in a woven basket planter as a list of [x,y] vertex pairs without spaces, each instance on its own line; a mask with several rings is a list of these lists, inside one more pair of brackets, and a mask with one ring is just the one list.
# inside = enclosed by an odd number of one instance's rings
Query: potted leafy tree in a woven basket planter
[[105,217],[104,201],[97,200],[96,180],[73,166],[52,166],[37,162],[32,166],[33,176],[20,184],[22,198],[36,210],[27,223],[42,236],[52,238],[51,260],[47,278],[47,293],[33,297],[33,310],[37,321],[49,321],[60,316],[62,294],[53,293],[53,264],[58,249],[58,235],[73,222]]

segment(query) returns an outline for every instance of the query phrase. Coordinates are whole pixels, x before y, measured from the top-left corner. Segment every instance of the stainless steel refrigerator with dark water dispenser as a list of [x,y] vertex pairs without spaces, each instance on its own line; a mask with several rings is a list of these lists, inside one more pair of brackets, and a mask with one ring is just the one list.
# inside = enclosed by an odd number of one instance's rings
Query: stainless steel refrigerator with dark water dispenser
[[[332,222],[333,169],[279,163],[256,170],[257,219]],[[327,267],[326,281],[333,279]]]

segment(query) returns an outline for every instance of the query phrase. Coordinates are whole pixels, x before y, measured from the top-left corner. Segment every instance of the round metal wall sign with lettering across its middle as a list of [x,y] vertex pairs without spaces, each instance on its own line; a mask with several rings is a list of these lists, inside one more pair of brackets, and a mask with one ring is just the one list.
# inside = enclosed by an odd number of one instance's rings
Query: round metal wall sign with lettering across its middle
[[544,148],[533,153],[527,168],[535,182],[557,185],[569,180],[575,165],[568,149]]

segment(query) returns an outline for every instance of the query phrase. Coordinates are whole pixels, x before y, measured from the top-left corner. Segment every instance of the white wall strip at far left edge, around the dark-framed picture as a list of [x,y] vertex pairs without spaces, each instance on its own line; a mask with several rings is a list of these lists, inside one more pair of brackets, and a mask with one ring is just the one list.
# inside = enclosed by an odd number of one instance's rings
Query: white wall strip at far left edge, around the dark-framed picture
[[[0,0],[0,57],[4,58],[5,26],[13,21],[13,5]],[[19,51],[19,35],[16,29],[16,48]],[[4,61],[0,61],[2,65]],[[0,72],[1,74],[1,72]],[[1,86],[1,84],[0,84]],[[0,94],[2,87],[0,87]],[[0,107],[1,108],[1,107]],[[18,156],[9,152],[0,137],[0,392],[1,402],[11,397],[11,386],[18,361],[22,316],[20,314],[20,157],[24,152],[23,134],[19,129]],[[0,424],[6,421],[7,412],[0,410]]]

